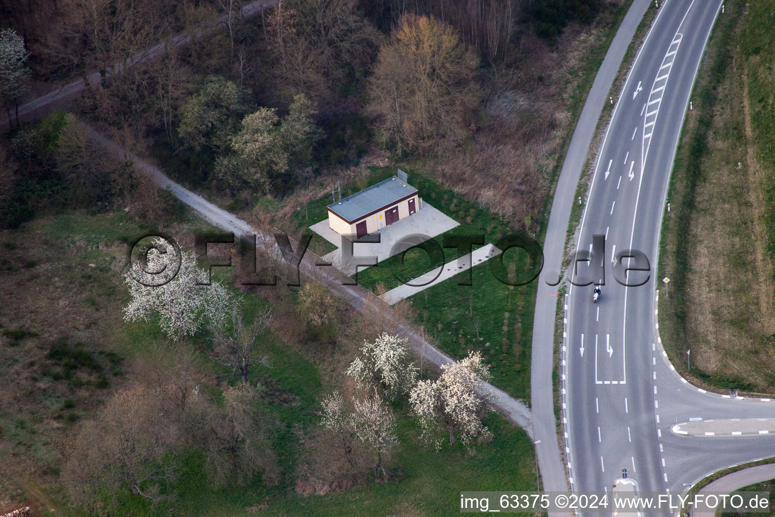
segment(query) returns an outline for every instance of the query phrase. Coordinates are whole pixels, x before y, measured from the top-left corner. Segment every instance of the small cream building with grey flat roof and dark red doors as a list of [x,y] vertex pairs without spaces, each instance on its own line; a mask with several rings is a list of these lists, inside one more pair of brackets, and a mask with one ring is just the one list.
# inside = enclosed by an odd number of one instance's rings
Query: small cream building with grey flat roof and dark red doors
[[419,209],[418,191],[406,176],[393,176],[329,205],[329,227],[357,239],[374,233]]

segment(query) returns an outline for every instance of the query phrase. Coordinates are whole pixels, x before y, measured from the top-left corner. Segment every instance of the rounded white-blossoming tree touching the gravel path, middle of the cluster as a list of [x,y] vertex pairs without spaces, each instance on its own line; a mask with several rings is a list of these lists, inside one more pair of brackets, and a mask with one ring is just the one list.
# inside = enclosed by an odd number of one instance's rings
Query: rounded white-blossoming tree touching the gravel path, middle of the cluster
[[360,357],[356,357],[346,374],[360,388],[374,391],[388,400],[408,393],[417,380],[417,368],[406,347],[408,339],[383,333],[374,341],[363,342]]

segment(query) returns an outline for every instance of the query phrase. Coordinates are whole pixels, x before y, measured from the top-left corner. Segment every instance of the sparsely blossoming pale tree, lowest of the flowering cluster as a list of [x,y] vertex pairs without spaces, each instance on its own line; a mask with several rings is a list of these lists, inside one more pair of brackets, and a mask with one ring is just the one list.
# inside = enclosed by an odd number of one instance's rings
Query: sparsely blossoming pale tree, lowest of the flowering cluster
[[376,461],[374,463],[374,477],[385,473],[382,467],[382,454],[389,453],[398,445],[395,436],[395,416],[388,409],[382,399],[375,395],[363,401],[353,398],[353,410],[348,412],[345,408],[344,398],[339,391],[323,401],[322,425],[335,433],[341,433],[345,445],[345,454],[352,463],[349,454],[352,447],[348,439],[356,438],[361,443],[374,450]]

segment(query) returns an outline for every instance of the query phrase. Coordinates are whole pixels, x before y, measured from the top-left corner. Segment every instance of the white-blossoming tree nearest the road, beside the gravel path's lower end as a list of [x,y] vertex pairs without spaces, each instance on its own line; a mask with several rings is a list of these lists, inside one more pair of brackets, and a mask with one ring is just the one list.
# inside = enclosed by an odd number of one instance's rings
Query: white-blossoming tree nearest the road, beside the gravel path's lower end
[[419,381],[409,395],[423,437],[436,448],[443,442],[443,429],[449,432],[450,445],[455,443],[455,433],[463,443],[470,443],[477,436],[491,437],[482,424],[482,416],[495,395],[484,388],[483,381],[489,381],[492,376],[481,353],[469,353],[460,362],[444,364],[441,368],[442,374],[436,381]]

